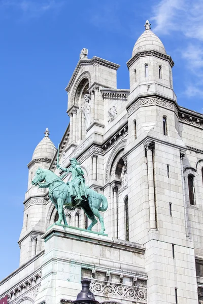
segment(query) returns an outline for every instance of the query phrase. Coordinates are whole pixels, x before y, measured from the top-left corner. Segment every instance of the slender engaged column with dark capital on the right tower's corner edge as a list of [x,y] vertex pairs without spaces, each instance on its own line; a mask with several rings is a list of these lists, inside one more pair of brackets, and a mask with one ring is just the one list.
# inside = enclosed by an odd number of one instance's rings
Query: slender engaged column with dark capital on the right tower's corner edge
[[145,144],[145,149],[147,150],[150,229],[156,229],[156,213],[155,213],[155,197],[154,197],[154,170],[153,170],[153,155],[152,155],[153,148],[154,148],[153,141],[148,141]]

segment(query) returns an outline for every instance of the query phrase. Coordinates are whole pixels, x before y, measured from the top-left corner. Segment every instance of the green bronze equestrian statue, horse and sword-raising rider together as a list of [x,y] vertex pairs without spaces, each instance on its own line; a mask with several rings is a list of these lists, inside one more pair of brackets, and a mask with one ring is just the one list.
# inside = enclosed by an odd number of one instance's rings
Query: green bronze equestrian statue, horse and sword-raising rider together
[[[108,202],[104,195],[97,193],[85,185],[84,172],[75,158],[70,159],[71,167],[69,169],[61,168],[57,160],[57,168],[65,171],[62,176],[57,176],[48,169],[38,168],[36,175],[32,179],[32,184],[39,188],[49,188],[49,197],[58,211],[58,220],[56,224],[62,221],[67,225],[63,206],[67,209],[82,208],[91,224],[87,230],[91,230],[97,223],[95,216],[101,224],[101,233],[105,232],[104,219],[99,211],[106,211]],[[72,173],[72,180],[65,183],[62,178],[67,174]]]

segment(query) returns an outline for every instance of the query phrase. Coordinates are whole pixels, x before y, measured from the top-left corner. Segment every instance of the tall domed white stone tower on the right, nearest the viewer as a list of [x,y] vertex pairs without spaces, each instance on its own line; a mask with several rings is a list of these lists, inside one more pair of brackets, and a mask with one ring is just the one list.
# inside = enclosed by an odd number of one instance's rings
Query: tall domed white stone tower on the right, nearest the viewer
[[184,297],[182,282],[189,283],[188,293],[197,303],[194,245],[187,234],[183,196],[186,146],[173,91],[174,62],[148,20],[145,27],[127,62],[129,239],[146,247],[150,304]]

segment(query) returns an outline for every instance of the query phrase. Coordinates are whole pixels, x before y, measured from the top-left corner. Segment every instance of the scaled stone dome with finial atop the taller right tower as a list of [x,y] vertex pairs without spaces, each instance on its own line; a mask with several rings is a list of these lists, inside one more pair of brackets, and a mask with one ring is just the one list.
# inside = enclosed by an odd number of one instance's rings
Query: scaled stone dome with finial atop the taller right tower
[[132,57],[139,52],[152,51],[152,50],[162,54],[166,54],[164,45],[160,41],[159,37],[157,37],[157,35],[155,35],[151,31],[150,25],[151,24],[147,20],[145,24],[144,33],[142,33],[142,35],[138,38],[136,44],[134,45],[132,51]]

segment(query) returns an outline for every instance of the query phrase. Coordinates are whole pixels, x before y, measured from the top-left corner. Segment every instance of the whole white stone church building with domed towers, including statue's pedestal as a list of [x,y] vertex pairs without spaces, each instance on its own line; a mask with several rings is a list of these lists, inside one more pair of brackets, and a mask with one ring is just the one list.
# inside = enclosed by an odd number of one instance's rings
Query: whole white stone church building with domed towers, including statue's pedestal
[[[174,62],[145,27],[127,62],[130,90],[117,89],[118,64],[87,49],[66,87],[60,163],[76,157],[107,197],[108,236],[54,225],[47,189],[31,184],[39,166],[62,174],[47,129],[28,164],[20,266],[0,282],[10,304],[71,303],[83,277],[106,304],[203,303],[203,115],[178,105]],[[82,210],[65,215],[87,228]]]

